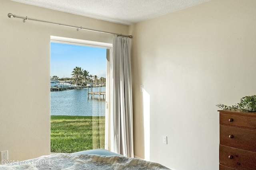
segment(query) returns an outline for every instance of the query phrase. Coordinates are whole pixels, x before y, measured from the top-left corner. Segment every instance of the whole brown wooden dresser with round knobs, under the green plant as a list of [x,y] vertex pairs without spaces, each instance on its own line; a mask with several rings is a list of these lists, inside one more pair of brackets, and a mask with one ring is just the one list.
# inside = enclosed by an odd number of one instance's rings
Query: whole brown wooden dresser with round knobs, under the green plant
[[219,112],[220,170],[256,170],[256,113]]

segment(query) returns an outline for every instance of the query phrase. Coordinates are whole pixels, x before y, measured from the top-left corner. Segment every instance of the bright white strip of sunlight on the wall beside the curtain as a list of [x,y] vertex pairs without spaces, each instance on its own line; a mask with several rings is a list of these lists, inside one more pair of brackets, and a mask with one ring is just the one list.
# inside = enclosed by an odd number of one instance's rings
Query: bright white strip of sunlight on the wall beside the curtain
[[150,160],[150,95],[143,89],[144,157]]

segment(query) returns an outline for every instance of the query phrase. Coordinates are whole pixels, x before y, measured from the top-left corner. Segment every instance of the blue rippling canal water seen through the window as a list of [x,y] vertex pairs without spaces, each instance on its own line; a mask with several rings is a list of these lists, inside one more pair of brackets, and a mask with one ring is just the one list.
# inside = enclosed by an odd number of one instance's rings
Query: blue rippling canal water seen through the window
[[[105,92],[106,87],[100,90]],[[87,88],[50,92],[50,104],[51,115],[105,116],[105,98],[95,95],[88,99]]]

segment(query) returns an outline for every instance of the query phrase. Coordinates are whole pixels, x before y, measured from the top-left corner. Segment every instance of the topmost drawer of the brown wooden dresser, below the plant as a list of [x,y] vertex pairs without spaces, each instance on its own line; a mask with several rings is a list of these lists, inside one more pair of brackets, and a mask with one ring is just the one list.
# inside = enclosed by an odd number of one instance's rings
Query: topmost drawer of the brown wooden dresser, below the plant
[[256,129],[256,117],[220,113],[220,124]]

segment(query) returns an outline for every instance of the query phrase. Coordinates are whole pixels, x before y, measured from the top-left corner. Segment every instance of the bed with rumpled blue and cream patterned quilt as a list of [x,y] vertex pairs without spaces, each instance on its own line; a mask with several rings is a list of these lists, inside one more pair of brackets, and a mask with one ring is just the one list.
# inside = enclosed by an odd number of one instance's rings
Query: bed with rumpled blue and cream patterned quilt
[[105,149],[56,153],[24,161],[6,161],[0,170],[167,170],[165,166],[127,158]]

